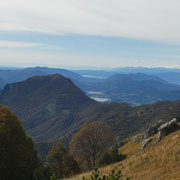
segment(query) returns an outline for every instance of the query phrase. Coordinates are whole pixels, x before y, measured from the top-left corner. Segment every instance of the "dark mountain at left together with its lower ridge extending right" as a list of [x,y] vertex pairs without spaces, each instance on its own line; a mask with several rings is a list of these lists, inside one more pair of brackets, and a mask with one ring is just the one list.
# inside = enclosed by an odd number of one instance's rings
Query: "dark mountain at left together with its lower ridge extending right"
[[6,85],[0,92],[0,104],[17,113],[27,133],[36,141],[67,143],[72,134],[90,121],[109,123],[124,139],[143,131],[149,123],[180,116],[180,101],[135,108],[127,103],[96,102],[59,74]]

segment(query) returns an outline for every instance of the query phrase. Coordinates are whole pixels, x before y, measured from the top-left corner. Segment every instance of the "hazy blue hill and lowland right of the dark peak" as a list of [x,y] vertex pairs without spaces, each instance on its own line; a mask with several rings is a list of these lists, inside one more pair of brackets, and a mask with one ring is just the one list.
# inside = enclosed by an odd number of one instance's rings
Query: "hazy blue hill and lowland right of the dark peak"
[[127,102],[132,105],[180,100],[179,85],[142,73],[115,74],[99,82],[79,84],[79,87],[87,93],[97,92],[96,97],[107,98],[109,102]]

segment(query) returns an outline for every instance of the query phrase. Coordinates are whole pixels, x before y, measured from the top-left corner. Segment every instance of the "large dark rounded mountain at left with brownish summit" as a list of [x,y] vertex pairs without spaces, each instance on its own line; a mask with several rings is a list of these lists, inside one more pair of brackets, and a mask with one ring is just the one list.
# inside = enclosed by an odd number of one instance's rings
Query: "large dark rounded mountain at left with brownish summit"
[[70,79],[55,74],[6,85],[0,103],[17,113],[29,134],[53,139],[74,123],[77,112],[96,102]]

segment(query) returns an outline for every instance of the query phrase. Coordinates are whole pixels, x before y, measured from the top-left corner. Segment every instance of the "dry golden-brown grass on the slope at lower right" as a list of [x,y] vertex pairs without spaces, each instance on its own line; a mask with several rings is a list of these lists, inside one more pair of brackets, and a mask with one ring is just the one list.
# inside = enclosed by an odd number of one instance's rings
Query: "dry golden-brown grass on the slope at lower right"
[[[173,138],[175,137],[176,138]],[[132,140],[123,146],[120,151],[128,154],[128,158],[119,163],[103,167],[103,174],[112,169],[121,169],[124,176],[132,180],[180,180],[180,131],[165,137],[157,144],[153,142],[143,151],[140,151],[140,142]],[[80,180],[84,173],[69,180]]]

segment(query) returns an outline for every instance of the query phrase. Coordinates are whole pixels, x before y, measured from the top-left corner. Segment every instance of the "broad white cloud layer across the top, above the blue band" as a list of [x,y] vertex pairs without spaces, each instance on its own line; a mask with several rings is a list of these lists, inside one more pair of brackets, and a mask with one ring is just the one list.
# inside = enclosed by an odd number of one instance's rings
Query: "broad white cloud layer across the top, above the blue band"
[[180,43],[179,0],[1,0],[0,30]]

